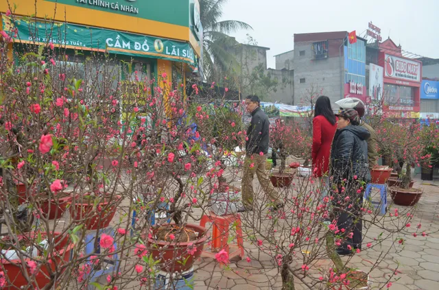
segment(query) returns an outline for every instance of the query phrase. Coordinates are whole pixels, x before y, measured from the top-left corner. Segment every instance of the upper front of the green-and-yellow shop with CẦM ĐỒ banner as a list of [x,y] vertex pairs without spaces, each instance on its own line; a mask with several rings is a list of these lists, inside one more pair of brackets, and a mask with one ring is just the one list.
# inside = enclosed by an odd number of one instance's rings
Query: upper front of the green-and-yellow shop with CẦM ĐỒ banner
[[[198,70],[202,56],[198,0],[9,2],[12,8],[1,1],[0,12],[1,30],[16,31],[10,34],[10,51],[23,44],[51,42],[72,55],[69,61],[80,62],[75,50],[110,53],[115,56],[115,68],[132,62],[139,77],[152,79],[166,72],[168,82],[174,85],[184,83],[187,73]],[[8,10],[14,18],[6,15]],[[36,18],[28,17],[33,14]],[[49,16],[53,21],[45,21]],[[115,71],[126,79],[122,69]]]

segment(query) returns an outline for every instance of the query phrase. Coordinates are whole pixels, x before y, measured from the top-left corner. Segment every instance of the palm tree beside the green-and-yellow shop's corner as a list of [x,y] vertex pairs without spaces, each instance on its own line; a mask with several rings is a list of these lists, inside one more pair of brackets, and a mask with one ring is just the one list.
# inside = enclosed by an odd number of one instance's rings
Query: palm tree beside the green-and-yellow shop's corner
[[203,70],[206,77],[213,77],[215,68],[225,71],[238,67],[238,62],[230,49],[237,47],[239,42],[228,34],[239,29],[252,29],[241,21],[219,21],[222,7],[227,0],[200,0],[200,18],[203,27]]

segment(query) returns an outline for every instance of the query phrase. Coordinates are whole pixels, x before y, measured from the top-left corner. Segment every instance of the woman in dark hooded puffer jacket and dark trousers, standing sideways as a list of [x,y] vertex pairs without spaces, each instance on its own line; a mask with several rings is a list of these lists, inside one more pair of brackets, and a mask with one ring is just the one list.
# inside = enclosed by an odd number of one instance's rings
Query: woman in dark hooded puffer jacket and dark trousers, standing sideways
[[331,179],[335,185],[333,205],[340,235],[344,242],[338,254],[351,254],[361,249],[361,206],[366,184],[370,181],[368,168],[369,131],[358,126],[355,109],[345,109],[337,115],[337,132],[331,151]]

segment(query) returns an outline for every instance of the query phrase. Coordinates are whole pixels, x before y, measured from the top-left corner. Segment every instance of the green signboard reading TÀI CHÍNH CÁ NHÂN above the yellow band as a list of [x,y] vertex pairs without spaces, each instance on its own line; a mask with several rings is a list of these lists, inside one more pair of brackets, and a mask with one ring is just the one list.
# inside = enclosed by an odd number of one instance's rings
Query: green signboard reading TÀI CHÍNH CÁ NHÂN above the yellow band
[[[81,8],[189,27],[189,1],[167,0],[44,0]],[[135,25],[135,23],[133,23]]]

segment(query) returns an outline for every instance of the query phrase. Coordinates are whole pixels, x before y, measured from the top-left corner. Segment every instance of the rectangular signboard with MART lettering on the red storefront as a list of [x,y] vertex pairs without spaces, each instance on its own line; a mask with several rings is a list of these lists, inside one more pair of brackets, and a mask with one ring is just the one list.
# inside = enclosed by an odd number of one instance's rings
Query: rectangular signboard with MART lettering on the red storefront
[[421,63],[385,54],[385,77],[420,82]]

